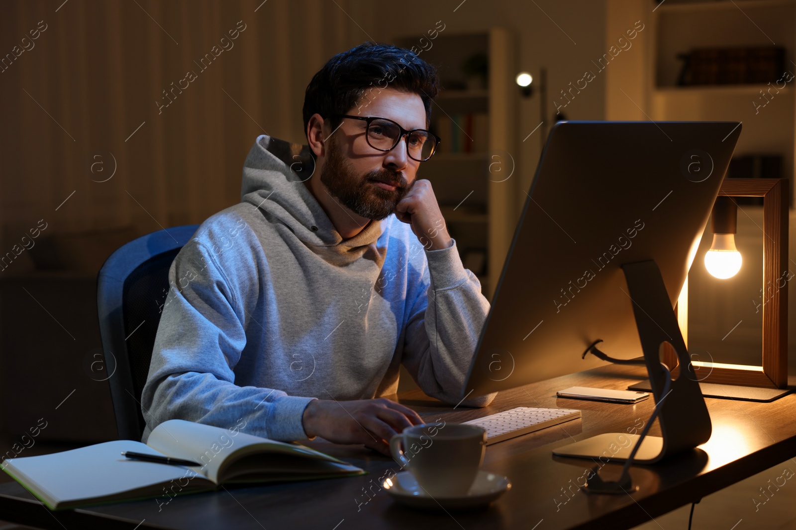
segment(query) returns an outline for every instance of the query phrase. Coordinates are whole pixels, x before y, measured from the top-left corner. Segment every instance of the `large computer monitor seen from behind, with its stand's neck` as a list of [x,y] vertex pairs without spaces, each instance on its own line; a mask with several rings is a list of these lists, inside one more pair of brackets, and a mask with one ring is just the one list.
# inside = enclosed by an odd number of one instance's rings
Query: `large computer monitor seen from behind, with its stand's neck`
[[[740,130],[739,122],[556,123],[526,192],[462,397],[602,366],[592,355],[582,358],[602,339],[600,350],[613,358],[645,355],[661,400],[658,346],[661,338],[672,344],[688,367],[673,306]],[[669,447],[640,453],[639,461],[710,436],[695,380],[673,384],[666,400],[659,420],[664,438],[667,430],[672,437]],[[703,425],[687,439],[679,439],[678,421],[669,420],[681,407],[693,408],[689,422]]]

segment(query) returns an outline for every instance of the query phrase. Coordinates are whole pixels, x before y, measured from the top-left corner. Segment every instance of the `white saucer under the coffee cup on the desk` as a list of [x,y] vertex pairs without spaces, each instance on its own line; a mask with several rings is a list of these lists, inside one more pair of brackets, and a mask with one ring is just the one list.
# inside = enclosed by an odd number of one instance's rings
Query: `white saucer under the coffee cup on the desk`
[[473,486],[466,494],[431,497],[420,487],[410,471],[401,471],[381,485],[393,499],[415,508],[473,509],[489,505],[505,491],[511,482],[499,474],[478,470]]

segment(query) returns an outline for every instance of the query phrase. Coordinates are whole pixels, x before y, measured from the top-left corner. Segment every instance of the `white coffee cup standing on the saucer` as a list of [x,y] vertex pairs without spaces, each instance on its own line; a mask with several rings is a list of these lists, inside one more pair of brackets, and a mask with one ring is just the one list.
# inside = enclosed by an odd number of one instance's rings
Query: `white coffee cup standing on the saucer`
[[446,422],[415,425],[390,439],[390,452],[431,497],[466,495],[484,459],[486,431]]

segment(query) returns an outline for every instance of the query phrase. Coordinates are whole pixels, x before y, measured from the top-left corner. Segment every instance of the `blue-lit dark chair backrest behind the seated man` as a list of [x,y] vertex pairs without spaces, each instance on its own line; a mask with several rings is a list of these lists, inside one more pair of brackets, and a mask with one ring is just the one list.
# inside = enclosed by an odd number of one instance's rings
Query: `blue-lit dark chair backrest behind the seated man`
[[141,441],[141,392],[169,291],[169,268],[199,225],[146,234],[116,250],[97,276],[97,309],[119,439]]

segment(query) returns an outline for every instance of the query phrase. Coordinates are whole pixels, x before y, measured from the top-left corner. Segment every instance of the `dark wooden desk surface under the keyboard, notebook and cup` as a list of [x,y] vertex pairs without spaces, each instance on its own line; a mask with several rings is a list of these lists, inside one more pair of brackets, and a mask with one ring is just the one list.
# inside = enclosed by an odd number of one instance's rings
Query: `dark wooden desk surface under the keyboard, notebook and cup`
[[[681,505],[796,456],[796,396],[772,403],[707,398],[713,431],[708,443],[654,466],[633,466],[640,489],[630,495],[587,495],[577,482],[594,462],[553,458],[552,448],[603,432],[626,432],[648,420],[653,400],[609,404],[567,400],[556,390],[570,386],[625,389],[646,377],[636,366],[603,368],[540,381],[498,394],[487,408],[454,409],[412,390],[400,403],[426,420],[466,421],[518,406],[579,408],[580,420],[549,427],[487,447],[482,469],[506,475],[513,487],[488,509],[423,512],[392,501],[383,489],[365,489],[387,470],[390,458],[362,446],[323,442],[307,445],[361,466],[369,474],[270,486],[230,487],[216,493],[154,499],[50,512],[16,482],[0,486],[0,519],[40,528],[632,528]],[[655,424],[650,434],[660,435]],[[606,464],[604,473],[618,470]],[[788,466],[793,467],[793,466]],[[601,472],[601,473],[603,473]],[[772,480],[777,478],[772,475]],[[372,482],[371,482],[372,481]],[[582,481],[580,481],[582,483]],[[767,486],[767,485],[761,485]],[[365,502],[365,500],[369,501]],[[739,507],[754,512],[754,503]],[[138,526],[139,525],[139,526]]]

